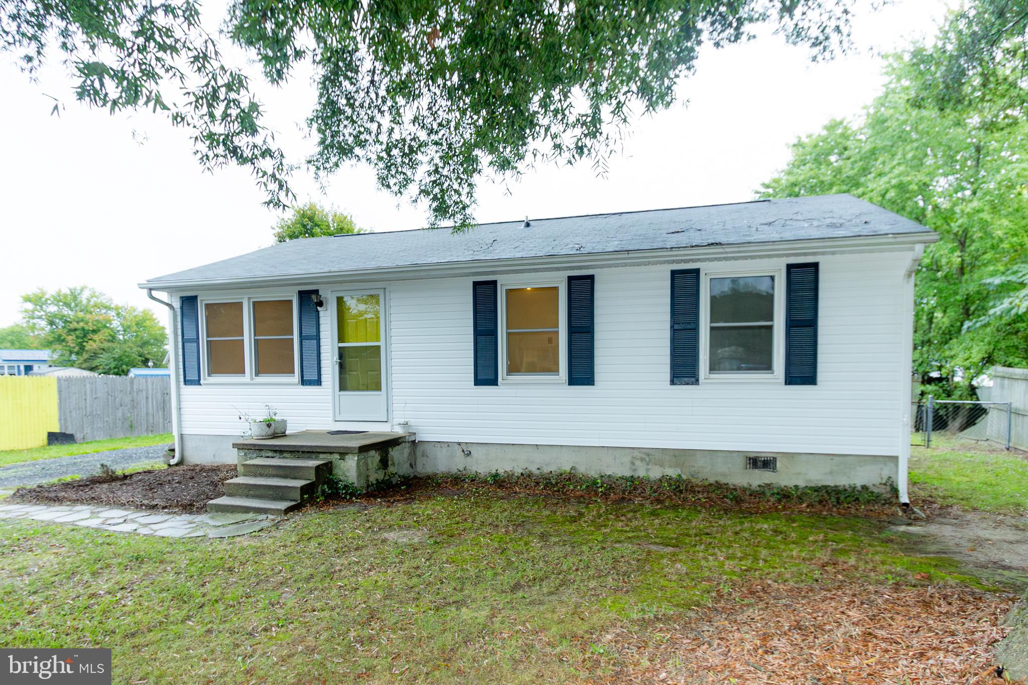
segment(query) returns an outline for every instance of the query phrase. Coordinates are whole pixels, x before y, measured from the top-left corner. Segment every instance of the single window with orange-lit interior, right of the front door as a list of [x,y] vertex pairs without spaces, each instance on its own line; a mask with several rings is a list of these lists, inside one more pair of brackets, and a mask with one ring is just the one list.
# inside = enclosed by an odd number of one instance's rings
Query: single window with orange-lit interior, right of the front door
[[562,291],[559,282],[503,287],[505,380],[563,379]]

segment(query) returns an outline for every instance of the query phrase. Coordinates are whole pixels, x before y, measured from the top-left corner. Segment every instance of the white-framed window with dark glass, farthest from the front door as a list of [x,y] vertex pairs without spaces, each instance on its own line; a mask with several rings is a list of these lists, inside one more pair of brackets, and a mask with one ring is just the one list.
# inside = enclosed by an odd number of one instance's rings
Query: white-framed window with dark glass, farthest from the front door
[[779,280],[778,272],[707,274],[708,378],[776,376]]

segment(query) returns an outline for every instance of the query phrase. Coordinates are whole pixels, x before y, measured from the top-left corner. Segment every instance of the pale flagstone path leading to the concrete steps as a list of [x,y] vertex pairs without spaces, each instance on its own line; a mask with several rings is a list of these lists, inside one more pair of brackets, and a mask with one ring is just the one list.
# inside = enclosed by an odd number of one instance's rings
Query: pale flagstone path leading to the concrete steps
[[0,519],[45,521],[158,537],[234,537],[274,523],[263,513],[172,513],[79,504],[0,504]]

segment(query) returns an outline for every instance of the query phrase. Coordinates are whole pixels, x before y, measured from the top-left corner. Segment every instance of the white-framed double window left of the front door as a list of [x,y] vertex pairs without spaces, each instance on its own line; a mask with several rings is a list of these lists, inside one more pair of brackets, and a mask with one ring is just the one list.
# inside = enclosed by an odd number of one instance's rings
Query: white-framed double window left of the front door
[[296,381],[295,298],[201,302],[204,369],[211,381]]

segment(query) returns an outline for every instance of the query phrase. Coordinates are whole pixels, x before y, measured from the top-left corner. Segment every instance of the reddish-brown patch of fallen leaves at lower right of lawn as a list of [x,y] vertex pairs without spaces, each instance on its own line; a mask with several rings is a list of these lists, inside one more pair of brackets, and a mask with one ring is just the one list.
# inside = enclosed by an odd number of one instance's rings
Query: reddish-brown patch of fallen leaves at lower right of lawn
[[993,649],[1013,596],[966,587],[755,582],[667,624],[604,638],[646,683],[1004,683]]

